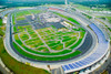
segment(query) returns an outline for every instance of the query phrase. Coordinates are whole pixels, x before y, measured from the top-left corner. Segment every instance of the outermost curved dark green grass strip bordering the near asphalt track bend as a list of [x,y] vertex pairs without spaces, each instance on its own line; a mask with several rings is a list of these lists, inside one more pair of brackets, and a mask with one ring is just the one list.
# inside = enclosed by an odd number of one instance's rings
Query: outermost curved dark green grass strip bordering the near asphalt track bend
[[69,59],[69,57],[73,57],[73,56],[75,56],[75,55],[81,53],[80,51],[77,50],[75,52],[73,52],[71,54],[68,54],[68,55],[56,56],[56,57],[46,57],[46,56],[38,56],[38,55],[32,55],[30,53],[27,53],[20,46],[18,46],[14,42],[13,42],[13,46],[16,47],[16,50],[20,54],[22,54],[22,55],[24,55],[27,57],[30,57],[30,59],[39,60],[39,61],[60,61],[60,60],[65,60],[65,59]]

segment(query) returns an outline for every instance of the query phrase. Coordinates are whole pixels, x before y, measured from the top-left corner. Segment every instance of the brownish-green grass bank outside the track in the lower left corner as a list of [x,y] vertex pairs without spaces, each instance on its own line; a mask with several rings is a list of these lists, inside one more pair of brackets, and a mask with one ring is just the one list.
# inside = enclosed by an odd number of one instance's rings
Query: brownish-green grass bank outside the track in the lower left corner
[[47,71],[33,66],[26,65],[23,63],[20,63],[16,61],[13,57],[11,57],[4,46],[3,46],[3,39],[0,39],[0,57],[2,59],[3,63],[9,67],[14,74],[50,74]]

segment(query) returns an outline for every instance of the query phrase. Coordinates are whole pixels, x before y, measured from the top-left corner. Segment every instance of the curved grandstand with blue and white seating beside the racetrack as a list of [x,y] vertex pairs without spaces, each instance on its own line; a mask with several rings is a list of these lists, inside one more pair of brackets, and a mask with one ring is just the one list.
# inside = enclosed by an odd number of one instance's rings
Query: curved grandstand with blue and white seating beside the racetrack
[[95,47],[95,51],[91,53],[91,55],[87,56],[85,59],[82,59],[80,61],[70,64],[62,65],[64,73],[74,72],[74,71],[81,72],[82,71],[81,67],[87,68],[88,66],[91,66],[92,64],[100,61],[108,52],[109,42],[105,40],[105,36],[102,33],[102,31],[93,23],[90,24],[89,27],[97,34],[98,42],[99,42],[98,47]]

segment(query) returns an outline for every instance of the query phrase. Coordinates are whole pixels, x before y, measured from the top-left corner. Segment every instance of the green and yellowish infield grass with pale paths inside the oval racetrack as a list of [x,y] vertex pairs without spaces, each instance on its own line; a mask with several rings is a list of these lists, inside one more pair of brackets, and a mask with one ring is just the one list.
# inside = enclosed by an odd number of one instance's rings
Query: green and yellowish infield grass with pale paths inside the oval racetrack
[[[16,13],[17,19],[24,18],[23,12],[26,13],[26,11],[20,11],[19,15],[17,12]],[[31,10],[28,11],[26,14],[34,12],[40,13],[41,11]],[[57,12],[53,13],[80,25],[80,23],[72,18],[62,15]],[[39,22],[41,22],[40,19]],[[16,40],[16,42],[13,41],[13,46],[20,54],[40,61],[60,61],[77,56],[82,52],[78,50],[75,50],[74,52],[72,51],[82,42],[85,34],[85,30],[81,27],[73,25],[70,22],[67,23],[70,24],[70,29],[67,27],[57,29],[53,24],[41,29],[34,29],[34,27],[30,24],[29,25],[22,25],[23,23],[20,23],[20,25],[16,24],[13,27],[14,38],[12,39]],[[22,46],[22,49],[19,47],[18,44]],[[56,59],[51,57],[51,55],[54,56]]]

